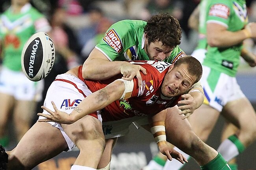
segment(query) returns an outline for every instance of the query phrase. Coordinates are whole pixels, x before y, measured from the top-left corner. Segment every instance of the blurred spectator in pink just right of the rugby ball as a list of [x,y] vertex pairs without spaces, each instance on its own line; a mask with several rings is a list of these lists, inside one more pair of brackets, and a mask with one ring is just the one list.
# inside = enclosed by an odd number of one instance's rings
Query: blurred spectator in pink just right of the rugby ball
[[68,69],[80,64],[77,52],[80,51],[78,41],[72,28],[65,24],[66,11],[54,9],[50,19],[52,30],[49,35],[54,41],[56,52],[65,58]]

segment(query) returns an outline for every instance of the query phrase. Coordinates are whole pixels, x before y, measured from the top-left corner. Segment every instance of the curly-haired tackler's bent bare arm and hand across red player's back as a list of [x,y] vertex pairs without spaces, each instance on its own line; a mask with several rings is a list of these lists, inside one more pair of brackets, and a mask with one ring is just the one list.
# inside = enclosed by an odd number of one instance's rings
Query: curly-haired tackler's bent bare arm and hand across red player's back
[[83,78],[92,80],[104,80],[121,73],[123,79],[132,80],[137,77],[139,86],[141,86],[141,75],[147,74],[146,69],[125,61],[110,62],[108,58],[98,49],[93,49],[87,60],[83,64]]

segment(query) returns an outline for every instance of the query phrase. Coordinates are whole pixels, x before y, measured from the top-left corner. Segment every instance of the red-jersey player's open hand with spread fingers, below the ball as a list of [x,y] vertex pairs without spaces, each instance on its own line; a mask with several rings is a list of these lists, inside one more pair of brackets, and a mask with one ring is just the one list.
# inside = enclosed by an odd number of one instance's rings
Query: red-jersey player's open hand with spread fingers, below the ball
[[52,110],[46,108],[45,106],[41,106],[43,110],[46,110],[49,114],[37,113],[38,116],[43,116],[46,119],[39,119],[38,122],[57,122],[63,124],[71,124],[73,123],[72,119],[66,112],[61,112],[57,109],[56,105],[52,101],[52,106],[54,108],[54,112]]

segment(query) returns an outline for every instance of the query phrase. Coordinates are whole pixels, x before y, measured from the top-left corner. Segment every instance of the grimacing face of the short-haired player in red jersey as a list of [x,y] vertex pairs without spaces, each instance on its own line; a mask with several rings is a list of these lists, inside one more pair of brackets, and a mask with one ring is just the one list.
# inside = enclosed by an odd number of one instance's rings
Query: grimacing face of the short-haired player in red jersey
[[173,68],[165,75],[161,92],[165,97],[174,97],[184,94],[195,82],[196,76],[187,71],[187,64]]

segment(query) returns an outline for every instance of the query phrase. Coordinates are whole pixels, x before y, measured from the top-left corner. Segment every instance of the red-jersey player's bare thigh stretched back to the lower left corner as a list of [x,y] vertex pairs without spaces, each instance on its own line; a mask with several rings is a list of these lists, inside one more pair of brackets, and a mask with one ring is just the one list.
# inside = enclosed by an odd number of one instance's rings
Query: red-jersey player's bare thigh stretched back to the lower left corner
[[28,169],[33,168],[58,155],[67,147],[58,128],[47,122],[36,122],[22,137],[16,148],[9,152],[9,165],[15,166],[18,161]]

